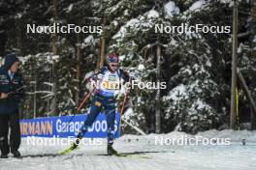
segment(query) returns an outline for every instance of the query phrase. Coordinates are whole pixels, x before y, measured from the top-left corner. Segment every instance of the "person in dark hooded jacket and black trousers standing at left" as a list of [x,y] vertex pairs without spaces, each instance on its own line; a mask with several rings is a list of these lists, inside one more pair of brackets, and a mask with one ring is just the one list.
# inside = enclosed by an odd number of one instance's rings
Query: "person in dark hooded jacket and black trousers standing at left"
[[[24,96],[23,79],[18,71],[19,61],[16,54],[5,57],[0,68],[0,150],[1,158],[7,158],[11,152],[19,157],[20,145],[19,102]],[[11,128],[10,144],[8,143]]]

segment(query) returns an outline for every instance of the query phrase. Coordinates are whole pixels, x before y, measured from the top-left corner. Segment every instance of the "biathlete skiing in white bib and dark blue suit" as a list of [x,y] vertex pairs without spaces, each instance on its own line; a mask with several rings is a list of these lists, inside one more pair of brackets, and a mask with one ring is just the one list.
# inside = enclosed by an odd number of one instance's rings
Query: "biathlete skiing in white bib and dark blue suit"
[[113,140],[115,137],[114,131],[114,120],[115,113],[118,108],[116,98],[120,93],[120,87],[123,83],[130,81],[130,76],[123,70],[118,68],[119,65],[119,55],[110,54],[107,57],[108,66],[103,67],[99,72],[90,78],[96,86],[95,95],[93,96],[92,102],[90,104],[90,111],[87,115],[83,126],[80,128],[79,134],[76,141],[71,146],[71,150],[75,150],[79,144],[80,139],[85,135],[88,128],[92,126],[98,114],[104,110],[106,114],[107,124],[108,124],[108,155],[117,155],[117,152],[112,148]]

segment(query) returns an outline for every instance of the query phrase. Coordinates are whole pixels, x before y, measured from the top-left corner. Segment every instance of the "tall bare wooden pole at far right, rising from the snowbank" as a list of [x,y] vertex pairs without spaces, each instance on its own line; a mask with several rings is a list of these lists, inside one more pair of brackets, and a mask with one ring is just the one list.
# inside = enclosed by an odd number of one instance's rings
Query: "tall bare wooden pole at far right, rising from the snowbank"
[[234,0],[233,8],[233,52],[232,52],[232,85],[231,85],[231,108],[230,108],[230,128],[236,128],[237,115],[237,60],[238,60],[238,2]]

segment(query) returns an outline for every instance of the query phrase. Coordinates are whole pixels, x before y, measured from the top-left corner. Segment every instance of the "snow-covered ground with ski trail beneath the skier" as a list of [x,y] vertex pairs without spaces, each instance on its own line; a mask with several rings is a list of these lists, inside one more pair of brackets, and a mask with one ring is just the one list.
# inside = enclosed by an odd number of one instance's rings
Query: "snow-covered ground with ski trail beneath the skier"
[[[182,132],[124,135],[114,148],[128,156],[105,156],[106,143],[100,146],[80,146],[66,156],[57,153],[65,146],[31,146],[22,139],[22,158],[0,159],[0,170],[254,170],[256,169],[256,131],[209,130],[198,133],[204,138],[230,138],[230,145],[160,145],[160,139],[196,136]],[[158,139],[158,145],[155,145]],[[245,139],[245,145],[242,145]],[[170,142],[170,141],[169,141]]]

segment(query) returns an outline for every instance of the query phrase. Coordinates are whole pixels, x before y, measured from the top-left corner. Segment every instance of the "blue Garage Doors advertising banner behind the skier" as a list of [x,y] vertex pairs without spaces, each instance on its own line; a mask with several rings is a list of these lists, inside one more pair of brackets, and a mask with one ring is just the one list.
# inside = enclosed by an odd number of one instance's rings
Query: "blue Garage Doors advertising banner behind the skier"
[[[86,120],[86,114],[76,116],[46,117],[28,120],[20,120],[21,137],[76,137]],[[108,124],[104,113],[100,113],[91,128],[84,137],[106,138],[108,134]],[[115,114],[114,129],[115,137],[119,137],[119,114]]]

